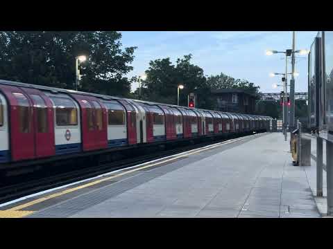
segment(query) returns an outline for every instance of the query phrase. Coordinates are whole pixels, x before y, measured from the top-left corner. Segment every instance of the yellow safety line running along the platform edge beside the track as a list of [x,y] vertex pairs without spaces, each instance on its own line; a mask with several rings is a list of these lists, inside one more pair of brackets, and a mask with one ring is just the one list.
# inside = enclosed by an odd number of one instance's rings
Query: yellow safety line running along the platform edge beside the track
[[84,184],[84,185],[80,185],[80,186],[78,186],[78,187],[72,187],[72,188],[70,188],[70,189],[68,189],[68,190],[63,190],[63,191],[58,192],[58,193],[55,193],[55,194],[50,194],[49,196],[45,196],[45,197],[42,197],[42,198],[40,198],[40,199],[36,199],[36,200],[34,200],[34,201],[29,201],[28,203],[24,203],[24,204],[22,204],[22,205],[18,205],[18,206],[16,206],[16,207],[14,207],[14,208],[10,208],[10,209],[8,209],[8,210],[0,210],[0,218],[2,217],[1,214],[6,214],[6,213],[7,213],[7,214],[10,214],[10,212],[13,212],[13,213],[12,213],[13,215],[10,215],[10,216],[15,216],[15,217],[18,217],[18,216],[19,216],[19,217],[23,217],[23,216],[26,216],[26,215],[28,215],[28,214],[32,214],[32,213],[35,212],[35,211],[25,211],[25,210],[23,210],[23,211],[18,211],[18,210],[21,210],[22,208],[27,208],[27,207],[30,207],[31,205],[35,205],[35,204],[37,204],[37,203],[41,203],[41,202],[43,202],[43,201],[46,201],[46,200],[49,200],[49,199],[53,199],[53,198],[55,198],[55,197],[62,196],[62,195],[64,195],[64,194],[69,194],[69,193],[74,192],[74,191],[76,191],[76,190],[81,190],[81,189],[83,189],[83,188],[85,188],[85,187],[90,187],[90,186],[96,185],[96,184],[98,184],[98,183],[102,183],[102,182],[104,182],[104,181],[108,181],[108,180],[110,180],[110,179],[112,179],[112,178],[116,178],[116,177],[119,177],[119,176],[123,176],[123,175],[125,175],[125,174],[129,174],[129,173],[132,173],[132,172],[136,172],[136,171],[138,171],[139,169],[145,169],[145,168],[148,168],[148,167],[153,167],[153,166],[155,166],[155,165],[160,165],[160,164],[162,164],[162,163],[166,163],[166,162],[169,162],[169,161],[171,161],[171,160],[176,160],[176,159],[178,159],[178,158],[182,158],[182,157],[185,157],[185,156],[189,156],[189,155],[192,155],[192,154],[196,154],[196,153],[199,153],[199,152],[201,152],[201,151],[205,151],[205,150],[207,150],[207,149],[213,149],[213,148],[215,148],[215,147],[219,147],[219,146],[221,146],[221,145],[226,145],[226,144],[228,144],[228,143],[230,143],[230,142],[236,142],[236,141],[243,140],[243,139],[245,139],[245,138],[240,138],[240,139],[232,140],[232,141],[229,141],[229,142],[227,141],[227,142],[225,142],[225,143],[223,143],[223,144],[214,145],[214,146],[212,146],[212,147],[208,147],[208,148],[205,148],[205,149],[200,149],[199,151],[190,152],[190,153],[188,153],[188,154],[184,154],[184,155],[181,155],[181,156],[177,156],[177,157],[175,157],[175,158],[170,158],[170,159],[167,159],[167,160],[163,160],[163,161],[158,162],[158,163],[153,163],[153,164],[151,164],[151,165],[146,165],[146,166],[143,166],[143,167],[138,167],[138,168],[135,168],[135,169],[130,169],[130,170],[126,171],[126,172],[123,172],[123,173],[120,173],[120,174],[117,174],[117,175],[114,175],[114,176],[109,176],[109,177],[107,177],[107,178],[103,178],[103,179],[100,179],[100,180],[96,180],[96,181],[93,181],[93,182],[91,182],[91,183],[86,183],[86,184]]

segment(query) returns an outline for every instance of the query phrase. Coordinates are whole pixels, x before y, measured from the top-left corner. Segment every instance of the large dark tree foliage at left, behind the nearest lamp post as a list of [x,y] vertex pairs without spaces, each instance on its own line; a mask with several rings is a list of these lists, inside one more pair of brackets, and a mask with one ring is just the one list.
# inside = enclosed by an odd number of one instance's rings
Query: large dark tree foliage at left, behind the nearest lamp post
[[75,57],[82,64],[81,91],[128,96],[135,47],[121,49],[115,31],[0,32],[0,79],[74,89]]

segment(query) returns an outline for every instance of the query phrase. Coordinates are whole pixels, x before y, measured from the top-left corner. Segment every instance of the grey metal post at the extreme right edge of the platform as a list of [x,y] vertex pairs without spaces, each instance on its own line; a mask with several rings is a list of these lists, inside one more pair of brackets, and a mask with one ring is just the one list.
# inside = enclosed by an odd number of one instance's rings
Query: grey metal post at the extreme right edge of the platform
[[327,215],[333,215],[333,143],[326,140]]

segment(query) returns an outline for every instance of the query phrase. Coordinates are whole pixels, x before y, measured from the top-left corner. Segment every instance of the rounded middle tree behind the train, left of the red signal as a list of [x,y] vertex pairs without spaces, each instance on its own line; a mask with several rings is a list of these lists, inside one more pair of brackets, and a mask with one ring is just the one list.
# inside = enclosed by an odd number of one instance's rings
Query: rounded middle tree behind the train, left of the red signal
[[187,105],[189,93],[196,93],[197,100],[200,100],[197,107],[209,108],[210,89],[203,69],[191,64],[191,58],[191,54],[178,58],[176,65],[172,64],[169,57],[149,62],[149,68],[145,72],[146,80],[142,81],[142,99],[176,104],[178,85],[182,84],[185,88],[180,90],[181,105]]

